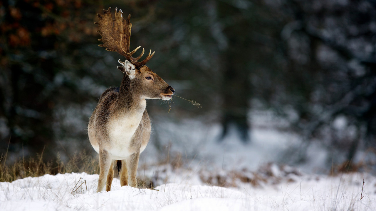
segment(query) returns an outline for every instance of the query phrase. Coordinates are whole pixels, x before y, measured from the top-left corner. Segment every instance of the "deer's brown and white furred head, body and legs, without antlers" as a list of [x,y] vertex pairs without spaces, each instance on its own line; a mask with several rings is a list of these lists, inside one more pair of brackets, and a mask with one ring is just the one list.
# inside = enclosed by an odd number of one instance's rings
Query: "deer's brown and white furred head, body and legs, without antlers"
[[168,100],[174,94],[174,89],[147,66],[136,69],[126,61],[119,69],[125,72],[120,88],[102,93],[88,125],[90,143],[99,153],[97,192],[105,184],[106,191],[111,190],[114,160],[121,160],[121,186],[128,185],[129,176],[129,184],[137,187],[139,154],[149,142],[151,131],[146,99]]

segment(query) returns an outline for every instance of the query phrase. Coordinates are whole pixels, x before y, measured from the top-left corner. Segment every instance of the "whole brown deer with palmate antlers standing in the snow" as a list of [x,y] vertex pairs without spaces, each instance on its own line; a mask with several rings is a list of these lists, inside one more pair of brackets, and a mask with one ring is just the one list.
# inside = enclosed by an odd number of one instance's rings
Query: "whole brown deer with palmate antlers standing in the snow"
[[[114,177],[114,164],[118,167],[121,186],[138,188],[137,167],[139,155],[150,139],[151,124],[146,110],[146,99],[170,100],[175,90],[161,77],[146,66],[155,51],[139,62],[142,53],[132,55],[141,47],[129,51],[130,15],[124,20],[121,9],[115,9],[112,19],[111,7],[103,9],[103,15],[97,14],[99,26],[97,32],[102,36],[100,47],[107,51],[116,51],[125,57],[120,59],[117,68],[124,73],[120,87],[105,90],[99,98],[88,124],[88,136],[91,146],[99,154],[99,179],[97,192],[111,190]],[[130,178],[130,181],[128,180]]]

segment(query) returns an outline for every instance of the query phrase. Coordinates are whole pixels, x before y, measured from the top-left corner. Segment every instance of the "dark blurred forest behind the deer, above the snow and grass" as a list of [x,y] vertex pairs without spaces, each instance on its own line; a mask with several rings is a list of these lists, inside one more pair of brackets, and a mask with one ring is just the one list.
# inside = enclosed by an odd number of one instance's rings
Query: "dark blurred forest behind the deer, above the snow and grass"
[[235,128],[247,147],[257,125],[250,113],[266,112],[283,123],[270,127],[303,140],[290,149],[299,152],[294,162],[304,162],[312,142],[338,162],[359,150],[375,153],[374,0],[4,0],[2,157],[8,143],[14,158],[44,148],[45,159],[92,151],[88,118],[101,93],[122,78],[116,66],[124,58],[97,46],[93,24],[109,6],[112,14],[117,7],[132,15],[131,48],[155,50],[148,66],[178,96],[202,105],[173,98],[168,112],[149,100],[149,147],[161,148],[156,127],[166,119],[220,124],[218,143]]

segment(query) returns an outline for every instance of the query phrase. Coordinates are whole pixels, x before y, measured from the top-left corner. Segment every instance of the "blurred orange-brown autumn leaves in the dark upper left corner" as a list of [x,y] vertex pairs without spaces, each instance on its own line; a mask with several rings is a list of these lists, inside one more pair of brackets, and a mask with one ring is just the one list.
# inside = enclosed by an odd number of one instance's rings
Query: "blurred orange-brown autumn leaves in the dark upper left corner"
[[96,36],[92,18],[83,17],[82,10],[83,3],[76,0],[23,0],[14,6],[0,3],[0,18],[4,20],[0,24],[0,42],[5,44],[0,45],[0,53],[2,48],[30,47],[32,42],[49,36],[60,36],[68,42]]

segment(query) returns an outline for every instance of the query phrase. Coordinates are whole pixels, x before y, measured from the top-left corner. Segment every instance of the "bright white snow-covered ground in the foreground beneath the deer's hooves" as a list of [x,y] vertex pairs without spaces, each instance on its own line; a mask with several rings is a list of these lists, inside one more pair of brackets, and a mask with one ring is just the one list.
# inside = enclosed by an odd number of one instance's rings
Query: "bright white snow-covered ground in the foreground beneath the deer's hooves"
[[[272,165],[273,166],[273,165]],[[274,173],[279,169],[272,167]],[[2,211],[21,210],[376,210],[376,178],[352,173],[338,176],[295,175],[280,182],[264,181],[258,187],[210,186],[176,176],[156,190],[120,187],[96,193],[98,175],[65,173],[0,183]],[[362,200],[362,178],[364,189]],[[86,181],[86,182],[85,182]],[[274,184],[273,184],[274,183]],[[240,184],[240,185],[239,185]]]

